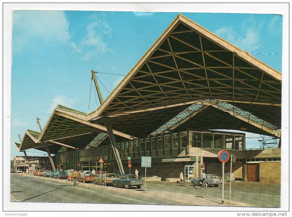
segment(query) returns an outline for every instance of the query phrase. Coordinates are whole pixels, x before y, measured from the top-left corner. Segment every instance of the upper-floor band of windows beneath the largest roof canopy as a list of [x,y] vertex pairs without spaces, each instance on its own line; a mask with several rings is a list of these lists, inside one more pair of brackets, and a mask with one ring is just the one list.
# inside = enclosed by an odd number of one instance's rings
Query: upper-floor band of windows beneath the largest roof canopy
[[[139,142],[138,142],[139,141]],[[156,152],[162,150],[181,151],[186,147],[245,150],[245,136],[231,133],[185,131],[135,139],[117,143],[121,154]],[[112,149],[109,151],[113,155]]]

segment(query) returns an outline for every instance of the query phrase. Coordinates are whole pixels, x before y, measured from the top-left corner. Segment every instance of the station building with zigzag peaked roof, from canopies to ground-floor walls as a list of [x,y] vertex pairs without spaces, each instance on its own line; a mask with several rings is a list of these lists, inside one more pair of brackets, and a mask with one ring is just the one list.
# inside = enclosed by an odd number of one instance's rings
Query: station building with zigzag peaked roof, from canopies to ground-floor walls
[[[202,172],[222,175],[218,152],[236,157],[238,180],[279,182],[282,74],[183,15],[168,26],[101,106],[89,114],[58,105],[44,130],[28,130],[19,151],[55,154],[63,169],[143,174],[186,180]],[[119,156],[113,151],[112,125]],[[222,130],[229,130],[228,132]],[[277,147],[246,150],[245,133],[279,139]],[[225,172],[230,163],[225,163]],[[187,168],[187,169],[186,169]],[[134,172],[134,171],[133,171]]]

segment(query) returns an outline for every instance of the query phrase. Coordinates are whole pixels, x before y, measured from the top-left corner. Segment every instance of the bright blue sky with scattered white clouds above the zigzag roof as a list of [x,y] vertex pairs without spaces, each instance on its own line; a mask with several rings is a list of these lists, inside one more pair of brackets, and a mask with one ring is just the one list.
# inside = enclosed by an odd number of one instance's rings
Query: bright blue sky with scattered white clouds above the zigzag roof
[[[18,133],[39,131],[36,117],[44,127],[57,104],[95,110],[99,103],[93,95],[89,104],[90,70],[102,73],[105,99],[178,13],[15,10],[11,156],[22,154],[13,145]],[[282,72],[281,15],[181,13]]]

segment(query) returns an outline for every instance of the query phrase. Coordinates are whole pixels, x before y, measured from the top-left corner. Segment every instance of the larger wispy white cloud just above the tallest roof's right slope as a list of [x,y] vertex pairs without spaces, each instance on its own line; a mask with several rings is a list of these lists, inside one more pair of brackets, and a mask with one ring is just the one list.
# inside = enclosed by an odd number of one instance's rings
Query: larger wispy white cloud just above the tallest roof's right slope
[[244,35],[239,35],[234,29],[224,26],[218,29],[215,34],[243,51],[251,52],[259,48],[259,33],[253,28],[246,29]]

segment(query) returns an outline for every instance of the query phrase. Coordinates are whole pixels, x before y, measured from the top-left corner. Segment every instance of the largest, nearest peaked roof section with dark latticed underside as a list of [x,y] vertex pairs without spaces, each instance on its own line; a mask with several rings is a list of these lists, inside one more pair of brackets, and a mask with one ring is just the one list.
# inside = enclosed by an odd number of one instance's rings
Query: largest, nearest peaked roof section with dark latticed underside
[[279,106],[282,74],[179,14],[88,120],[193,100]]

